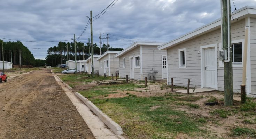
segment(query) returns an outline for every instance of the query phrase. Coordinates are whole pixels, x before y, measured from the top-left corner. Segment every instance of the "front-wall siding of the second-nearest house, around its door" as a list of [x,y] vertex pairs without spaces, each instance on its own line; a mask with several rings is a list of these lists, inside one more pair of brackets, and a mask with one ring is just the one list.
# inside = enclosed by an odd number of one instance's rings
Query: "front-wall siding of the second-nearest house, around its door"
[[[129,52],[126,52],[122,56],[119,57],[119,64],[120,64],[120,77],[124,78],[128,75],[130,79],[130,56],[140,55],[140,47],[136,47]],[[125,57],[125,68],[123,68],[123,57]],[[133,59],[134,60],[134,59]],[[134,68],[134,79],[140,80],[140,68]]]

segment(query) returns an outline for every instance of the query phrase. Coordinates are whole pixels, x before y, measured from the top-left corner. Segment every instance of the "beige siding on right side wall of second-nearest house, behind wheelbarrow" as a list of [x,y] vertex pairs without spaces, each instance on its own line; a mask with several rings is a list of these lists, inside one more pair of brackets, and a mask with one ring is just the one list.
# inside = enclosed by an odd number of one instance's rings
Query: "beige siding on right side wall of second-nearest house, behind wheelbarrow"
[[158,50],[157,46],[142,46],[142,80],[145,77],[149,80],[149,72],[154,71],[154,61],[155,71],[158,72],[156,80],[162,80],[162,55],[166,55],[166,51]]

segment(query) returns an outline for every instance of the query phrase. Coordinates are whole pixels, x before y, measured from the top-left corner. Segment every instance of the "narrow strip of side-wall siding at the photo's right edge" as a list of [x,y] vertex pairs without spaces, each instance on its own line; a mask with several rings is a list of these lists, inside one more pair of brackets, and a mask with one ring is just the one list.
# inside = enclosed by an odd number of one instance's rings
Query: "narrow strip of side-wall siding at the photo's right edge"
[[250,18],[251,93],[256,94],[256,18]]

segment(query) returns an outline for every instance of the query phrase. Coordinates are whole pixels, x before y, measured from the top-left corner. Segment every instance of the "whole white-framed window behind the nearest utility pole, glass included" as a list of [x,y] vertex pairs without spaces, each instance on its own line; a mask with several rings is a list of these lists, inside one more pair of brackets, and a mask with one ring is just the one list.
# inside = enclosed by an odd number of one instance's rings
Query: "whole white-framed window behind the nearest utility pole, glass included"
[[[241,40],[234,40],[231,42],[231,55],[230,58],[232,59],[233,67],[243,67],[243,45],[244,39]],[[219,50],[222,49],[222,43],[219,43]],[[223,66],[223,61],[219,61],[219,67]]]

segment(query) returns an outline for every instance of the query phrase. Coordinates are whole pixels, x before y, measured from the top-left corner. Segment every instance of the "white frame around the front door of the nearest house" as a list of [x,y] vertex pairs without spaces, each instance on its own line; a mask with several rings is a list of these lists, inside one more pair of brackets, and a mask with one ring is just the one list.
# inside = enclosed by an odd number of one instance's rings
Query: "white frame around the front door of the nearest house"
[[218,90],[218,59],[217,59],[217,43],[215,44],[210,44],[206,46],[201,46],[200,47],[200,59],[201,59],[201,88],[205,87],[205,70],[204,70],[204,65],[205,65],[205,49],[208,48],[214,48],[214,56],[215,56],[215,89]]

